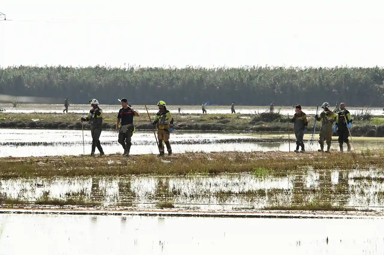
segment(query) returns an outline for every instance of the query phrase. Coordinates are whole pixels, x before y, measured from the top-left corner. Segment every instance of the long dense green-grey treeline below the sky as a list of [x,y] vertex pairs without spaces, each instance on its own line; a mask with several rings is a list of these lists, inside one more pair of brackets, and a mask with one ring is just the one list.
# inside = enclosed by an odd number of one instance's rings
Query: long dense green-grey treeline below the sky
[[[134,105],[311,106],[336,101],[382,106],[384,69],[373,68],[108,68],[7,67],[0,69],[0,94],[64,98],[70,103]],[[63,103],[58,102],[58,103]]]

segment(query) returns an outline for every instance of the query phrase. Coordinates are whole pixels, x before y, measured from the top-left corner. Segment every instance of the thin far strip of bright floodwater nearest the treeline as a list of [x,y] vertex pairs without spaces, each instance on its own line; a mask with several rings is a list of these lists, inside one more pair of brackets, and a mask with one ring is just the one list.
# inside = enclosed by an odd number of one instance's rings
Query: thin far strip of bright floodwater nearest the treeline
[[[117,101],[117,100],[116,100]],[[121,108],[120,105],[100,105],[100,107],[103,109],[104,113],[118,113],[119,109]],[[133,108],[135,108],[140,113],[146,113],[146,108],[144,105],[132,105]],[[171,113],[178,113],[178,108],[181,108],[180,113],[202,113],[201,106],[168,106],[167,110],[169,110]],[[159,109],[156,107],[156,105],[147,105],[149,113],[157,113]],[[16,108],[13,108],[12,105],[7,104],[0,104],[0,109],[5,109],[6,113],[62,113],[64,108],[64,105],[18,105]],[[89,105],[71,105],[68,108],[68,113],[88,113],[90,109]],[[275,111],[279,110],[280,106],[275,106]],[[210,113],[231,113],[231,107],[225,107],[225,106],[206,106],[205,110],[207,110],[207,114]],[[241,114],[254,114],[256,113],[262,113],[269,111],[269,107],[263,107],[263,106],[238,106],[235,108],[236,113]],[[351,113],[354,113],[356,110],[361,110],[361,107],[348,107],[348,110],[351,111]],[[303,107],[303,111],[306,114],[316,114],[316,107],[309,107],[305,108]],[[283,107],[280,109],[281,114],[290,114],[293,115],[295,113],[295,108],[293,107]],[[372,108],[372,114],[374,115],[383,115],[383,109],[382,108]]]

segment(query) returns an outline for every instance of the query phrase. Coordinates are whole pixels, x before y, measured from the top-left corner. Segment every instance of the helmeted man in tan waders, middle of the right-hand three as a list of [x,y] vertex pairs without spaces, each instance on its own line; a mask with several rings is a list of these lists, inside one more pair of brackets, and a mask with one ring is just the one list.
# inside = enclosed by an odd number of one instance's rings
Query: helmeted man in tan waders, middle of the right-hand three
[[329,111],[329,103],[324,102],[321,108],[324,109],[320,115],[315,115],[314,118],[316,118],[317,121],[321,121],[320,126],[320,132],[319,132],[319,144],[320,149],[318,151],[324,152],[324,140],[327,143],[327,150],[326,152],[329,152],[329,149],[331,149],[331,143],[332,143],[332,124],[337,118],[337,114],[333,111]]

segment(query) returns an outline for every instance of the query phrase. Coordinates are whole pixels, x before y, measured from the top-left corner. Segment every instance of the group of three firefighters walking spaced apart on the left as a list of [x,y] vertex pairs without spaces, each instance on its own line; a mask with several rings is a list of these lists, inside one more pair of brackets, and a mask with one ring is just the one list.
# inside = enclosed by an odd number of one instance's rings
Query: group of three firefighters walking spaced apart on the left
[[[118,141],[124,149],[122,155],[129,156],[131,149],[131,138],[136,132],[133,124],[133,118],[139,117],[139,113],[132,108],[132,104],[128,103],[126,98],[120,100],[122,108],[116,118],[116,131],[119,132]],[[92,108],[87,116],[81,117],[81,121],[88,121],[91,126],[92,150],[91,155],[94,155],[96,148],[100,155],[104,155],[103,148],[100,144],[100,134],[103,125],[103,110],[99,108],[99,101],[96,99],[89,100]],[[159,139],[159,156],[164,156],[164,143],[167,147],[168,154],[172,154],[172,148],[169,143],[169,135],[172,132],[173,118],[166,108],[164,101],[159,101],[157,104],[159,111],[156,113],[154,121],[149,123],[150,126],[157,128],[157,139]]]

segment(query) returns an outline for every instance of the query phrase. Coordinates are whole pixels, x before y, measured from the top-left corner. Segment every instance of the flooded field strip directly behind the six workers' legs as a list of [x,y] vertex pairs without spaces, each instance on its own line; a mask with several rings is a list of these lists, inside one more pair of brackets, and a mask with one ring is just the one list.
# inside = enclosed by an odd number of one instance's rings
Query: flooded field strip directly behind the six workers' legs
[[[223,151],[288,151],[295,149],[292,138],[288,143],[286,134],[263,133],[224,133],[224,132],[191,132],[174,131],[171,134],[171,145],[174,153],[183,152],[223,152]],[[293,136],[294,137],[294,136]],[[306,142],[306,150],[317,150],[318,134],[313,145]],[[310,140],[310,135],[305,139]],[[118,143],[118,133],[103,130],[100,141],[106,154],[122,152]],[[89,130],[84,130],[85,153],[91,150],[92,137]],[[355,149],[383,149],[384,139],[377,141],[354,141]],[[334,141],[331,149],[338,149]],[[153,132],[137,131],[132,136],[131,154],[157,154],[158,149]],[[54,155],[83,154],[83,133],[81,130],[66,129],[32,129],[32,128],[1,128],[0,157],[29,157]]]

